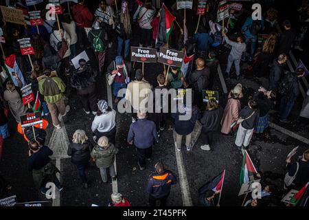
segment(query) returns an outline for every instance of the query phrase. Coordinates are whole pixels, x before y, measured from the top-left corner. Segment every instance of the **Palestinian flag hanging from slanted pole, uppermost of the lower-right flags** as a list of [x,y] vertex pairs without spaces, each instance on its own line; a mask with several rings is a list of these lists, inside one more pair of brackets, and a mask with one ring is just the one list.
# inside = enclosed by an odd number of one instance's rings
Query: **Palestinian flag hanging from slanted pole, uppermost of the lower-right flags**
[[258,173],[253,165],[253,162],[246,150],[244,150],[244,157],[242,159],[242,168],[240,170],[240,187],[242,184],[247,184],[253,174]]

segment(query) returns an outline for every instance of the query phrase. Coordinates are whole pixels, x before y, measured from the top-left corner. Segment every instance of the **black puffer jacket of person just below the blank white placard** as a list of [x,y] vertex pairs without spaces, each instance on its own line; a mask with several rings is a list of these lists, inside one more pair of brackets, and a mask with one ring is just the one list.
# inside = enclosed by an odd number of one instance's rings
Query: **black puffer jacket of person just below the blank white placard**
[[78,90],[87,89],[95,84],[95,77],[98,71],[87,64],[85,69],[77,69],[71,76],[71,87]]

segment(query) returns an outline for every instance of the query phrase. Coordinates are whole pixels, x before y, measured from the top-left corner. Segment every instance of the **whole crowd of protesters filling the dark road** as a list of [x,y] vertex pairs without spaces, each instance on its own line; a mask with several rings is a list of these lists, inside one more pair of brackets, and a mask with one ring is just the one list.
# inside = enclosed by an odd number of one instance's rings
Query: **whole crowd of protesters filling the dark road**
[[[10,1],[12,7],[25,7],[24,1]],[[201,23],[196,27],[196,16],[192,13],[183,18],[183,14],[176,10],[175,4],[165,1],[168,9],[178,21],[183,21],[185,27],[172,26],[170,39],[166,45],[174,50],[183,50],[185,56],[192,57],[188,67],[169,67],[158,74],[156,85],[151,85],[144,78],[144,70],[135,69],[130,62],[130,46],[133,39],[138,41],[139,47],[155,47],[157,35],[160,34],[160,9],[152,1],[95,1],[98,7],[89,8],[85,0],[71,3],[71,12],[65,10],[59,15],[60,22],[49,21],[43,16],[43,25],[36,29],[25,25],[12,25],[5,29],[8,46],[5,47],[5,65],[3,72],[8,77],[3,82],[0,106],[0,159],[2,156],[3,139],[8,138],[8,109],[12,119],[16,121],[18,131],[28,143],[29,161],[28,170],[32,172],[34,186],[47,193],[46,179],[54,181],[58,190],[63,186],[56,177],[59,171],[51,162],[49,156],[53,151],[45,143],[47,126],[61,129],[62,123],[69,118],[70,107],[67,99],[71,89],[76,91],[82,103],[80,113],[93,114],[95,118],[89,124],[93,132],[89,140],[85,131],[76,128],[71,137],[67,154],[71,162],[76,165],[82,186],[91,187],[86,176],[85,168],[92,159],[100,169],[104,183],[108,182],[108,175],[112,181],[117,179],[114,160],[118,153],[116,138],[116,104],[123,104],[130,109],[132,123],[128,129],[127,142],[133,144],[137,152],[137,164],[144,170],[152,157],[152,146],[160,141],[161,132],[165,129],[167,120],[174,121],[174,146],[181,151],[182,138],[185,136],[185,147],[192,151],[196,143],[196,124],[201,125],[201,149],[211,151],[216,142],[215,133],[233,137],[236,133],[234,147],[243,151],[249,148],[251,138],[257,133],[264,133],[268,128],[270,112],[277,110],[280,122],[288,122],[288,117],[297,98],[299,98],[299,80],[306,74],[306,69],[297,68],[295,72],[285,68],[288,52],[292,47],[302,51],[301,45],[306,38],[309,19],[309,3],[304,1],[299,5],[301,14],[301,28],[296,30],[290,21],[282,22],[284,32],[276,32],[274,25],[279,22],[279,12],[268,6],[264,10],[262,20],[253,21],[251,14],[245,19],[244,12],[231,11],[230,17],[225,19],[227,27],[217,22],[216,13],[218,3],[208,1],[208,11]],[[5,3],[3,3],[5,5]],[[42,14],[46,13],[42,10]],[[190,19],[189,19],[190,17]],[[243,21],[244,20],[244,21]],[[278,21],[277,21],[278,20]],[[194,21],[194,22],[192,22]],[[195,29],[196,28],[196,29]],[[266,35],[264,41],[259,42],[259,34]],[[19,50],[18,39],[28,36],[31,39],[35,54],[31,55],[30,63],[27,56],[22,56]],[[217,77],[218,48],[226,44],[231,47],[227,54],[227,67],[223,71],[225,80],[231,81],[236,74],[236,85],[227,94],[227,104],[223,106],[216,100],[203,102],[203,90],[214,88],[214,78]],[[137,46],[137,45],[135,45]],[[81,58],[78,68],[73,67],[72,59],[79,52],[91,49],[94,61]],[[111,63],[106,63],[108,50],[115,50],[116,56]],[[5,68],[12,62],[12,57],[18,68]],[[265,77],[268,87],[260,87],[249,100],[244,100],[244,86],[240,83],[243,72],[242,65],[248,64],[245,74],[254,74]],[[13,61],[14,65],[14,61]],[[183,64],[184,66],[184,64]],[[223,69],[222,69],[223,70]],[[106,100],[100,98],[98,90],[99,76],[106,75],[108,84],[112,87],[114,106],[108,106]],[[22,78],[21,78],[22,77]],[[24,105],[21,98],[21,87],[31,83],[33,93],[41,100],[43,122],[34,126],[34,129],[21,126],[22,115],[32,113],[34,109]],[[121,90],[126,89],[124,94]],[[160,111],[147,112],[148,106],[141,107],[145,98],[155,100],[155,90],[165,89],[192,89],[192,100],[186,95],[172,114],[163,111],[164,104],[160,101]],[[300,117],[308,121],[309,118],[309,90],[304,100]],[[126,102],[122,102],[125,100]],[[159,100],[169,103],[170,99],[162,94]],[[246,103],[242,106],[241,103]],[[33,101],[31,103],[35,105]],[[153,103],[154,106],[158,104]],[[168,104],[169,106],[169,104]],[[155,108],[154,108],[155,109]],[[183,116],[190,113],[190,118],[183,120]],[[51,120],[47,122],[47,115]],[[62,118],[62,119],[61,119]],[[35,132],[35,133],[34,133]],[[93,142],[95,144],[93,144]],[[293,183],[286,188],[299,190],[309,180],[309,153],[299,162],[288,163],[288,175],[294,177]],[[107,172],[108,170],[108,172]],[[1,177],[1,176],[0,176]],[[1,180],[1,193],[10,190],[10,184]],[[176,177],[172,171],[165,169],[162,162],[155,165],[155,172],[148,178],[146,191],[149,194],[150,206],[165,206],[172,185],[176,184]],[[276,188],[273,184],[265,186],[262,199],[252,199],[245,206],[268,206],[273,201],[271,197]],[[207,192],[201,202],[203,206],[212,206],[214,193]],[[111,195],[110,206],[130,206],[127,199],[120,193]],[[274,203],[274,202],[273,202]]]

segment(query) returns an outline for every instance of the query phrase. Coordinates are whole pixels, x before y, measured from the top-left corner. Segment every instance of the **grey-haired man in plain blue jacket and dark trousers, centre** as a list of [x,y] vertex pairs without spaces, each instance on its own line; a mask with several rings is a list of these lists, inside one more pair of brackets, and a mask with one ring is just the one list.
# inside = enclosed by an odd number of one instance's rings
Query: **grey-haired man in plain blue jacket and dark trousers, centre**
[[155,122],[146,119],[146,112],[137,113],[138,120],[130,125],[127,141],[136,147],[137,164],[140,170],[145,169],[146,158],[150,161],[152,145],[159,142]]

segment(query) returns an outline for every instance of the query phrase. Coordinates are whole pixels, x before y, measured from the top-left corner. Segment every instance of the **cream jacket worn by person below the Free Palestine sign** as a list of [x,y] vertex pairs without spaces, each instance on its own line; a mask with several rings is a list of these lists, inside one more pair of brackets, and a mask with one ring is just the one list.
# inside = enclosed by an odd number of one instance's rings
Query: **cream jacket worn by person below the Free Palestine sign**
[[132,81],[126,88],[125,98],[132,104],[133,109],[146,110],[148,107],[148,96],[152,93],[151,89],[151,85],[146,80]]

